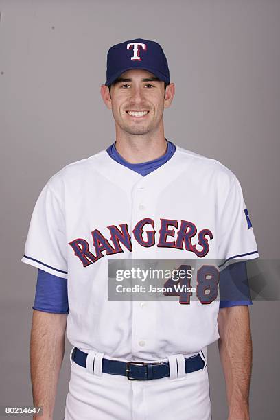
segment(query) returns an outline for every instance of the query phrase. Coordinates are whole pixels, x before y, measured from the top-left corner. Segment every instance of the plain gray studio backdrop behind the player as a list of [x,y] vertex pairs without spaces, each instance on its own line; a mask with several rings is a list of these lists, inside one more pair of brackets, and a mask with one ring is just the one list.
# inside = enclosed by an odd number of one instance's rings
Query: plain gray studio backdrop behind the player
[[[176,95],[165,136],[239,178],[263,258],[278,258],[280,2],[0,1],[1,399],[32,404],[29,340],[36,269],[21,256],[34,203],[61,167],[114,141],[100,97],[106,51],[159,41]],[[279,302],[250,307],[252,419],[279,415]],[[54,419],[62,419],[69,344]],[[226,419],[217,343],[209,346],[213,420]]]

